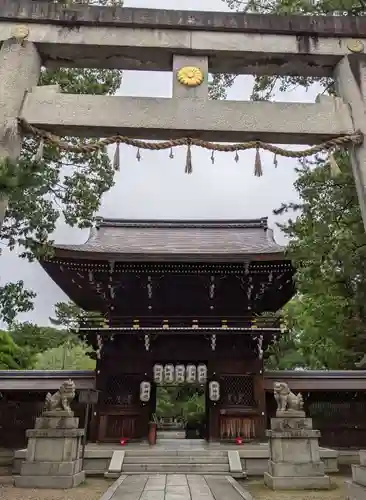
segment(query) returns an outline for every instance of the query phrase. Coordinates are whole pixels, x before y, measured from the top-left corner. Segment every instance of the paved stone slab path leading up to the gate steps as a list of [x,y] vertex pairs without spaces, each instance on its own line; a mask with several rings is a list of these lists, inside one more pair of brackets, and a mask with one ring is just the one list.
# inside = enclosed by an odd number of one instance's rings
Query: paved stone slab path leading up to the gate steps
[[229,476],[122,475],[101,500],[252,500]]

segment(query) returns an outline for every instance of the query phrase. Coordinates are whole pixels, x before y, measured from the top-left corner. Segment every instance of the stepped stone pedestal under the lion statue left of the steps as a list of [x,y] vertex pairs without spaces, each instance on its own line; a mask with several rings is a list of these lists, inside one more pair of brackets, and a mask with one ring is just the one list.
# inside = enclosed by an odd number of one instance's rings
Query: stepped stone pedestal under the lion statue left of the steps
[[26,460],[20,476],[15,477],[18,488],[66,489],[85,480],[82,471],[79,419],[64,411],[45,412],[37,418],[34,429],[28,430]]

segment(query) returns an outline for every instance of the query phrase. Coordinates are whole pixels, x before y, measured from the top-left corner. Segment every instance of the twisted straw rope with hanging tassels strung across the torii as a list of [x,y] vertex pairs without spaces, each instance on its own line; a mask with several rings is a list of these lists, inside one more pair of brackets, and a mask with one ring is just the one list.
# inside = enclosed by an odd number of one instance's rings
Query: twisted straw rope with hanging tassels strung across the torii
[[329,159],[328,163],[330,165],[330,170],[332,175],[339,173],[339,167],[334,158],[334,152],[349,145],[359,145],[363,142],[363,134],[361,132],[355,132],[354,134],[344,134],[339,137],[334,137],[328,141],[322,142],[321,144],[316,144],[306,149],[291,151],[288,149],[283,149],[273,144],[269,144],[263,141],[248,141],[240,142],[237,144],[220,144],[216,142],[202,141],[201,139],[194,139],[190,137],[182,137],[180,139],[171,139],[169,141],[160,142],[148,142],[142,141],[140,139],[131,139],[130,137],[125,137],[122,135],[114,135],[111,137],[106,137],[95,142],[90,142],[88,144],[71,144],[64,141],[61,137],[51,134],[46,130],[41,130],[33,125],[30,125],[25,120],[19,120],[19,125],[23,128],[25,133],[31,134],[34,137],[39,138],[39,148],[35,155],[35,160],[38,160],[43,155],[44,144],[52,144],[57,148],[64,151],[72,151],[76,153],[91,153],[95,151],[104,150],[107,146],[116,144],[116,150],[114,153],[113,166],[115,170],[120,169],[120,145],[126,144],[128,146],[133,146],[137,148],[136,158],[141,161],[141,149],[148,149],[150,151],[161,151],[163,149],[169,150],[169,158],[174,158],[173,148],[177,146],[187,146],[187,156],[185,172],[191,174],[193,171],[193,155],[192,146],[199,148],[204,148],[211,151],[211,162],[215,163],[215,152],[225,152],[234,153],[234,160],[239,161],[239,152],[246,151],[249,149],[255,149],[254,158],[254,175],[256,177],[261,177],[263,175],[262,161],[260,157],[260,150],[269,151],[273,153],[273,164],[275,167],[278,165],[278,156],[284,156],[287,158],[299,158],[304,159],[309,156],[313,156],[317,153],[328,152]]

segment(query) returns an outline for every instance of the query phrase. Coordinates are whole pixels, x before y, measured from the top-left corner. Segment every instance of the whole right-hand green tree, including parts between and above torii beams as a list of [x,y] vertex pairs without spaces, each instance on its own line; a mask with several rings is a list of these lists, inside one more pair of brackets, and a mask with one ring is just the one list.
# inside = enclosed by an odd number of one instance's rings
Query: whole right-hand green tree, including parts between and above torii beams
[[[233,10],[246,13],[366,13],[366,3],[358,0],[225,1]],[[315,82],[324,93],[334,93],[331,78],[264,76],[255,78],[251,98],[268,100],[277,91],[308,89]],[[321,161],[316,163],[315,170],[310,166],[299,170],[295,187],[302,202],[285,204],[277,211],[302,211],[298,219],[283,226],[290,238],[289,256],[297,266],[299,293],[283,310],[289,333],[270,348],[267,363],[271,367],[354,367],[365,352],[365,236],[349,158],[340,157],[343,173],[337,179],[330,178]]]

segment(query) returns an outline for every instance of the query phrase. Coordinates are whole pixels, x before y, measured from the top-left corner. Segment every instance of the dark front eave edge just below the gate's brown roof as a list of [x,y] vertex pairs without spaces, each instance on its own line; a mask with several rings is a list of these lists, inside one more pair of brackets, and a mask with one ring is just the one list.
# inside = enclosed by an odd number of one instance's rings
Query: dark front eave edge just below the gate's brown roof
[[247,262],[288,261],[284,251],[265,253],[106,253],[54,247],[54,258],[114,262]]

